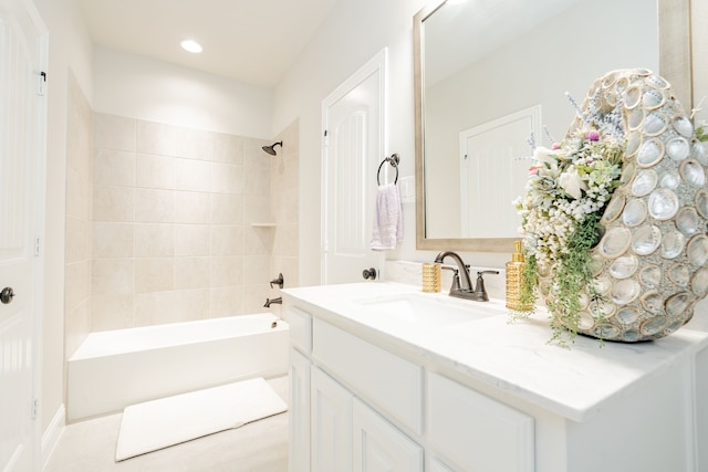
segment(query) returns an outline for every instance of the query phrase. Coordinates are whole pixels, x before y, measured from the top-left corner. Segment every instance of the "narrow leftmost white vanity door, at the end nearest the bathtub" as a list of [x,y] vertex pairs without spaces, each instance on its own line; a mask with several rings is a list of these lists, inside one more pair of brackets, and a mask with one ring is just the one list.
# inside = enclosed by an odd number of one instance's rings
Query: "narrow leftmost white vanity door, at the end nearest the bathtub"
[[310,359],[290,348],[290,472],[310,472]]

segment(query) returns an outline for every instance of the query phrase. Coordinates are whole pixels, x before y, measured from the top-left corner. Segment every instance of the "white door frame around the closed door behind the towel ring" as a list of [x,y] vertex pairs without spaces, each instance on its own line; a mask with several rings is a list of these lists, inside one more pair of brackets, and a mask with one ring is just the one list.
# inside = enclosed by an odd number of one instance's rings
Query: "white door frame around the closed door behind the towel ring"
[[[360,67],[354,74],[352,74],[348,78],[346,78],[342,84],[340,84],[333,92],[331,92],[323,101],[322,101],[322,127],[320,129],[321,140],[321,185],[320,185],[320,195],[321,195],[321,204],[320,204],[320,283],[325,284],[327,280],[327,258],[326,258],[326,241],[327,241],[327,224],[329,224],[329,206],[327,206],[327,191],[329,191],[329,181],[327,181],[327,123],[329,123],[329,111],[330,107],[333,106],[341,98],[346,96],[351,91],[356,88],[362,82],[364,82],[367,77],[378,72],[378,102],[381,104],[379,107],[379,126],[381,126],[381,149],[378,155],[383,159],[384,156],[388,153],[388,122],[386,117],[388,116],[388,104],[386,102],[386,97],[388,94],[386,93],[386,84],[388,83],[386,76],[386,63],[388,59],[388,50],[384,48],[381,50],[374,57],[368,60],[366,64]],[[373,218],[373,214],[371,216]],[[378,268],[382,268],[381,263],[384,260],[384,254],[377,254],[378,256]],[[377,275],[377,279],[381,277],[381,270]]]

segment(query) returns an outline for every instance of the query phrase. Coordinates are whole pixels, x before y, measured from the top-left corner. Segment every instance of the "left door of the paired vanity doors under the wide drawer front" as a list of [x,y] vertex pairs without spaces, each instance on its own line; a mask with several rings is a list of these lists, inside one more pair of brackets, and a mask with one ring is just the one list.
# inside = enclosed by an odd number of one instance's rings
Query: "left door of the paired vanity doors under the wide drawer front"
[[352,470],[352,394],[312,367],[312,472]]

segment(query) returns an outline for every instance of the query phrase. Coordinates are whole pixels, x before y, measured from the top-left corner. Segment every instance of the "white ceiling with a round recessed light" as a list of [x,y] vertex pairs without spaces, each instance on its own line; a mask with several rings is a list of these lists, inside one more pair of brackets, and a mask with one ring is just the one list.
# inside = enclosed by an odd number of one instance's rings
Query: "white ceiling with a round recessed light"
[[[275,86],[337,0],[79,0],[95,44]],[[184,51],[192,39],[204,52]]]

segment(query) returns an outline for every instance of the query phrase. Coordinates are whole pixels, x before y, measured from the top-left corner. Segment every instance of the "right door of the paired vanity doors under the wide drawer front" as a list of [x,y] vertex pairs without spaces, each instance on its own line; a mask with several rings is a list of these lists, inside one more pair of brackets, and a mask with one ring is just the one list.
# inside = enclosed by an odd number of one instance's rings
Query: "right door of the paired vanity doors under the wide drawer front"
[[354,399],[354,472],[421,472],[423,449]]

